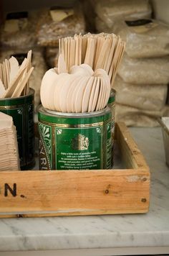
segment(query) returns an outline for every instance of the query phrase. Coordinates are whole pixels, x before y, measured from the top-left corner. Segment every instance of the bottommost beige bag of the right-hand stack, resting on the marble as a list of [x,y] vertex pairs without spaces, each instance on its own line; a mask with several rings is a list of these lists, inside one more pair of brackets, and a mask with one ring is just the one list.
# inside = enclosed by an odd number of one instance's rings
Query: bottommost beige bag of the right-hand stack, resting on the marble
[[115,106],[116,122],[125,122],[127,126],[133,127],[158,127],[160,116],[169,116],[169,106],[164,106],[160,111],[143,111],[122,104]]

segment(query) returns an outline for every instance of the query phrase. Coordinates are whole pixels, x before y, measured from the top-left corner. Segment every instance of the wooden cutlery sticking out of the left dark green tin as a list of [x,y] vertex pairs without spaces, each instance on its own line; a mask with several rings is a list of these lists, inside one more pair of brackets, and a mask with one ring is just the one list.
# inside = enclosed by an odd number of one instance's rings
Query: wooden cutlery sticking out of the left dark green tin
[[32,50],[19,66],[13,56],[0,63],[0,98],[16,98],[29,93],[29,77],[32,74]]

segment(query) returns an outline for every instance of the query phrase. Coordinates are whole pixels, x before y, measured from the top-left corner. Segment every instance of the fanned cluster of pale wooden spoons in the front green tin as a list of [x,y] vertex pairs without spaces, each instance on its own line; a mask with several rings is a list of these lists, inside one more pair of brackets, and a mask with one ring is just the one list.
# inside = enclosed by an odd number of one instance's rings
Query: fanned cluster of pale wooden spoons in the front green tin
[[58,69],[48,70],[42,79],[41,101],[45,109],[62,112],[90,112],[104,109],[110,97],[110,78],[101,68],[73,65],[65,70],[62,55]]

